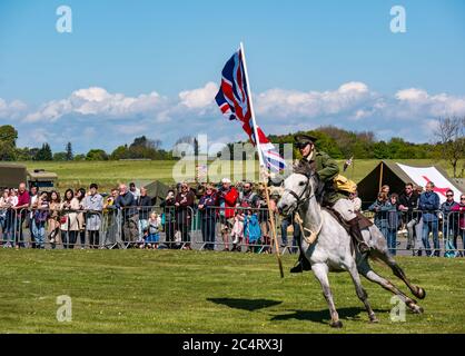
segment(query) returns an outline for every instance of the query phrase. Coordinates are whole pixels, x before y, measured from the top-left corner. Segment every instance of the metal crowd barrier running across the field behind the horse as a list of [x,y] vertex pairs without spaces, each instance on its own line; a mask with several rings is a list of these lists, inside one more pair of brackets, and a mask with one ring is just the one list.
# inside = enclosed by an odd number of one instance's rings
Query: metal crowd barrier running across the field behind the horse
[[[154,230],[149,224],[152,212],[160,219],[156,234],[150,234]],[[425,253],[426,256],[465,257],[463,211],[447,215],[432,211],[427,221],[425,211],[394,214],[364,211],[386,237],[392,254],[409,251],[415,256]],[[275,226],[281,254],[297,253],[299,226],[293,218],[276,214]],[[31,248],[112,249],[156,245],[176,249],[274,250],[268,209],[244,207],[110,206],[102,211],[0,209],[0,244]]]

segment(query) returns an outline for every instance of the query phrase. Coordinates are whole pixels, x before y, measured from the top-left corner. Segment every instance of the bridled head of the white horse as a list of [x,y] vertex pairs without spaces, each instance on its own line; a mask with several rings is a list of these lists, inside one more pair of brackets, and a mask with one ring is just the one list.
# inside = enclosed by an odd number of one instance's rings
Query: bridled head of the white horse
[[289,216],[304,205],[315,190],[315,172],[310,165],[300,161],[294,167],[294,172],[284,181],[284,194],[278,201],[278,211]]

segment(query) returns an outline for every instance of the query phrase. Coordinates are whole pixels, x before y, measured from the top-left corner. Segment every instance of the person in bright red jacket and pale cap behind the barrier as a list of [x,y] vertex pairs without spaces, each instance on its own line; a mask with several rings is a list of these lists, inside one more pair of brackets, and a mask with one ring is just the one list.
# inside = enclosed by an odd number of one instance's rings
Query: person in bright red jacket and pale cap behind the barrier
[[221,227],[221,238],[225,244],[224,251],[229,251],[229,234],[234,226],[234,217],[238,205],[239,192],[231,187],[228,178],[221,179],[221,188],[218,190],[219,222]]

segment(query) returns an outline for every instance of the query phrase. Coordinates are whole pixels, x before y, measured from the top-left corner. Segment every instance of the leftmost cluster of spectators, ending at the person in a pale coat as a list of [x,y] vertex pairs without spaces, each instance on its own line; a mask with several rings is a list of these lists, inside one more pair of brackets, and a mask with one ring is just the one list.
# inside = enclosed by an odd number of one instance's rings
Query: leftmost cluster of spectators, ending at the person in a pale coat
[[4,189],[0,198],[0,233],[3,248],[26,247],[24,228],[30,230],[30,243],[34,248],[44,248],[46,238],[56,248],[73,248],[78,237],[81,246],[99,244],[103,198],[98,186],[92,184],[89,190],[67,189],[61,199],[60,192],[38,191],[26,184],[18,189]]

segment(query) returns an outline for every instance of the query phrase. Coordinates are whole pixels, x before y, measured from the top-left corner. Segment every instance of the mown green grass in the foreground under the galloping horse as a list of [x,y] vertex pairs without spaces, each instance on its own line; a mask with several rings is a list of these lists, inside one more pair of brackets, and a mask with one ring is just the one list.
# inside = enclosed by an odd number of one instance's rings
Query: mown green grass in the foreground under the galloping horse
[[[0,333],[464,333],[465,259],[398,258],[427,297],[392,323],[390,295],[364,280],[368,324],[347,274],[330,281],[344,329],[332,329],[311,273],[279,278],[267,255],[152,250],[0,250]],[[383,266],[376,266],[398,286]],[[402,289],[406,289],[402,286]],[[59,323],[57,296],[72,298]]]

